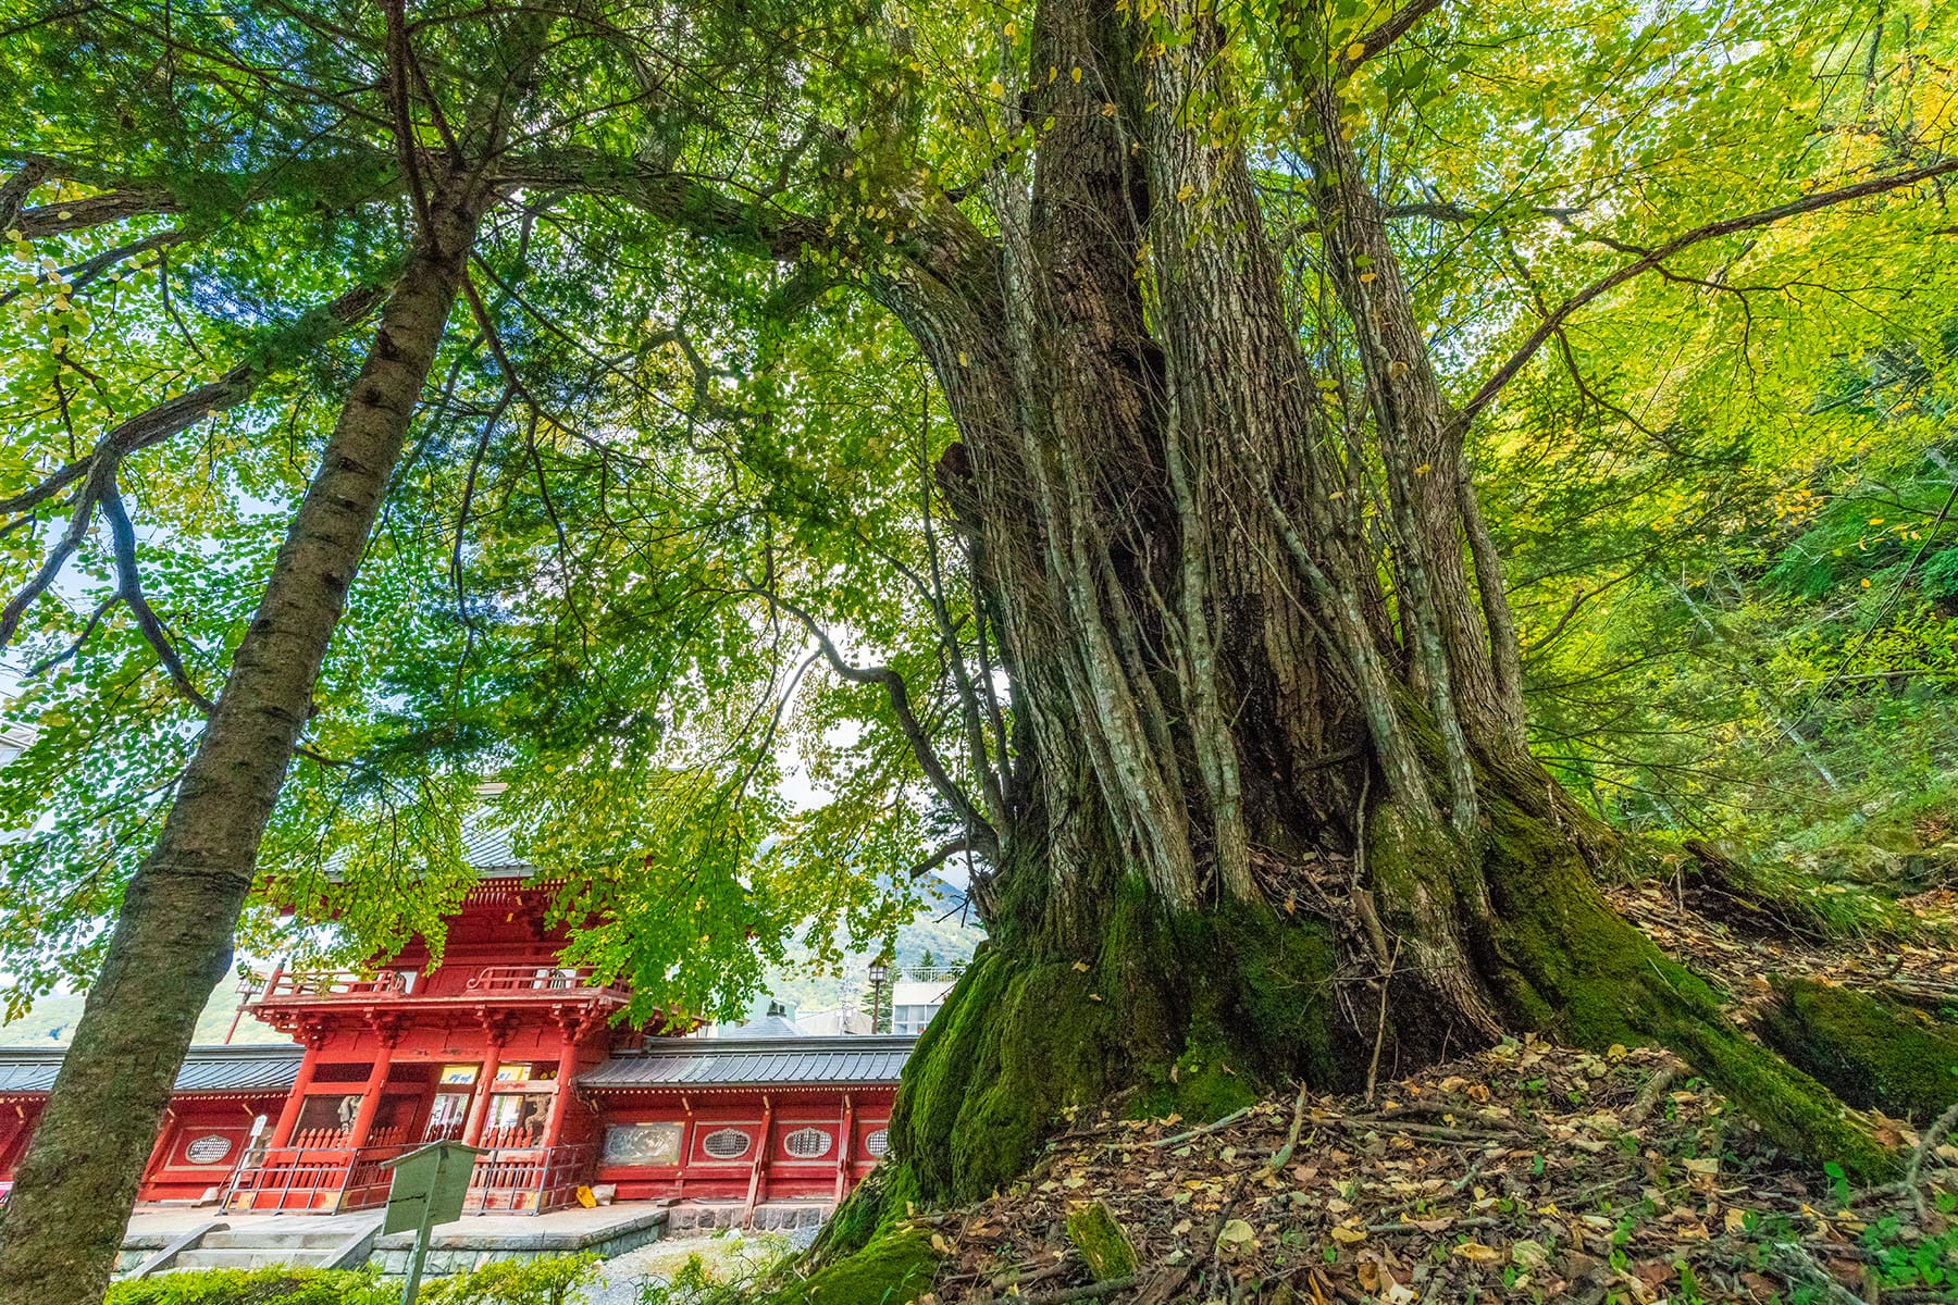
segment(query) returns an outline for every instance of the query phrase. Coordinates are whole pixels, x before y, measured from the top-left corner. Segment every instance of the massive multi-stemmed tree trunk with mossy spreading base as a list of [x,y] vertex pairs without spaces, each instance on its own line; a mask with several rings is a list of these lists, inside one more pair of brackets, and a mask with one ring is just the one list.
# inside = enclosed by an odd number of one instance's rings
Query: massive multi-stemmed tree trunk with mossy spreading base
[[[957,419],[938,473],[1016,712],[993,939],[907,1068],[887,1186],[983,1195],[1114,1092],[1196,1117],[1502,1029],[1664,1043],[1778,1143],[1882,1170],[1609,910],[1592,871],[1617,841],[1523,747],[1465,421],[1337,67],[1308,100],[1341,313],[1300,327],[1214,8],[1145,8],[1042,6],[1001,239],[940,205],[873,284]],[[1341,352],[1357,391],[1314,370]]]

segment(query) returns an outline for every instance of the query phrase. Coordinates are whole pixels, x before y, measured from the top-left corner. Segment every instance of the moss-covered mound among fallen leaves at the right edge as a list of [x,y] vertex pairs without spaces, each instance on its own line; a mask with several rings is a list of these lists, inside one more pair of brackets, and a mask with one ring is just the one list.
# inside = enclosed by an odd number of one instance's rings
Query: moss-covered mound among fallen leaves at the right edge
[[1776,982],[1762,1039],[1850,1105],[1936,1119],[1958,1102],[1958,1029],[1848,988]]

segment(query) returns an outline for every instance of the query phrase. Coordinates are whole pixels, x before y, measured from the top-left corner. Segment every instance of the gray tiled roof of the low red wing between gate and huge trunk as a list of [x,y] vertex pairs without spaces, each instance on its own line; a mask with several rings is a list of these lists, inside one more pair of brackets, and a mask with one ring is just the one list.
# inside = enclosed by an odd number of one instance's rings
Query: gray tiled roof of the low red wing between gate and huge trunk
[[783,1037],[652,1043],[613,1057],[578,1080],[580,1088],[744,1088],[799,1084],[895,1084],[914,1037]]

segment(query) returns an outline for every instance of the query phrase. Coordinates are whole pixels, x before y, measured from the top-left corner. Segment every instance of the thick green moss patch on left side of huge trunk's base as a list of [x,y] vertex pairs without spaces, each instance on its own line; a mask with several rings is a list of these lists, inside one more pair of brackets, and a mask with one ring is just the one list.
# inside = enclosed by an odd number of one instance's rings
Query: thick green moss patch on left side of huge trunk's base
[[1136,886],[1089,955],[989,943],[912,1051],[891,1150],[926,1199],[973,1201],[1114,1094],[1200,1121],[1290,1076],[1335,1082],[1333,968],[1316,923],[1265,908],[1165,920]]

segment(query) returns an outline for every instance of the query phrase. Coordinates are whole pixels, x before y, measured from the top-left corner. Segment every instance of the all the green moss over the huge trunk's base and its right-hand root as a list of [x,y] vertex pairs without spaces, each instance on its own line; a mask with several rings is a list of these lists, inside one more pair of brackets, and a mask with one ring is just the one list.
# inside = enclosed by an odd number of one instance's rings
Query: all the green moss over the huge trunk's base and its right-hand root
[[[1425,849],[1420,865],[1402,857],[1410,847]],[[1447,853],[1396,830],[1371,841],[1369,869],[1382,884],[1431,882],[1437,855]],[[1609,908],[1555,818],[1490,800],[1474,871],[1453,880],[1465,900],[1484,900],[1486,925],[1468,947],[1508,1027],[1596,1051],[1668,1047],[1786,1150],[1835,1160],[1856,1180],[1893,1170],[1841,1102],[1743,1033],[1713,988]],[[1167,918],[1140,884],[1118,892],[1091,953],[989,943],[907,1066],[891,1193],[918,1205],[983,1199],[1022,1178],[1075,1109],[1108,1100],[1130,1115],[1196,1123],[1292,1078],[1355,1088],[1373,1029],[1353,1027],[1351,1000],[1347,1017],[1335,1015],[1337,965],[1316,922],[1230,904]],[[1402,1066],[1433,1055],[1435,1006],[1416,976],[1394,980],[1386,1043]],[[1453,1049],[1472,1041],[1457,1033]],[[867,1244],[893,1217],[891,1195],[875,1215],[846,1207],[832,1240]]]

